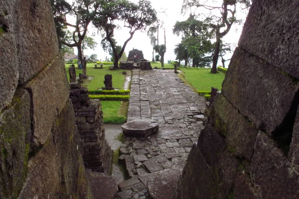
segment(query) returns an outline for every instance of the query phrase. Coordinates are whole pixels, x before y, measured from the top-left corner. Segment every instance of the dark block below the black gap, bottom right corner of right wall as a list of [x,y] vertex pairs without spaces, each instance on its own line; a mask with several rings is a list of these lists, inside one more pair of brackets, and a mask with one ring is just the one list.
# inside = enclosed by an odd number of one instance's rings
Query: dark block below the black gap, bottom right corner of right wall
[[277,144],[261,131],[257,135],[250,167],[252,183],[259,188],[261,198],[299,198],[299,173]]

